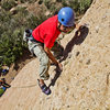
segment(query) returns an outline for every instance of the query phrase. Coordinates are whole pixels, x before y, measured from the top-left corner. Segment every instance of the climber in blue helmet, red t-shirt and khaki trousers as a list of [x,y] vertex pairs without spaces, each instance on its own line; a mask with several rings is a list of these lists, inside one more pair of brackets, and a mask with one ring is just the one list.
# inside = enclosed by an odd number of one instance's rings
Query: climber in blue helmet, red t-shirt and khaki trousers
[[[44,80],[50,78],[50,59],[61,72],[63,70],[63,65],[53,56],[51,48],[61,32],[68,33],[74,28],[76,28],[74,10],[69,7],[65,7],[59,10],[57,15],[47,19],[31,31],[32,34],[28,41],[29,50],[37,56],[40,61],[40,79],[37,80],[40,88],[46,95],[51,94],[51,89],[44,82]],[[30,33],[30,30],[26,30],[25,33]]]

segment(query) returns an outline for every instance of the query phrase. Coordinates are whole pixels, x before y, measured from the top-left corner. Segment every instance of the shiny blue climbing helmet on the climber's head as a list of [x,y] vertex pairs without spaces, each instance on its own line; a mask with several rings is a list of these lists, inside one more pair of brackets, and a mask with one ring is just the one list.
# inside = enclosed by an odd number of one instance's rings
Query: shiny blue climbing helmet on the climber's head
[[74,10],[69,7],[62,8],[58,12],[58,21],[65,26],[73,26],[75,22]]

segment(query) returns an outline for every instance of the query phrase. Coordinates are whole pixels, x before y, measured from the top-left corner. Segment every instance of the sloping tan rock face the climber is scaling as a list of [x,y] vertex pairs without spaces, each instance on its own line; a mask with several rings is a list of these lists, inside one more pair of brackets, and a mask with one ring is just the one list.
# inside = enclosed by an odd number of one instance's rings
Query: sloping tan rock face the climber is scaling
[[64,70],[50,68],[50,96],[36,79],[38,62],[32,61],[0,98],[0,110],[110,110],[110,1],[96,0],[80,21],[87,28],[62,40]]

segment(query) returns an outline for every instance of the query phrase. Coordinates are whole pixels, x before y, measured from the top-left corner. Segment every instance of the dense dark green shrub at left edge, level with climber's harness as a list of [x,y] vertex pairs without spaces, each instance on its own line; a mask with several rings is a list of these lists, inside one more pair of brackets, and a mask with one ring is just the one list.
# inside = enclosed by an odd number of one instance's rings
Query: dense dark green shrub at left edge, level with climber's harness
[[8,66],[22,55],[22,35],[21,30],[4,32],[0,38],[0,57],[3,59],[0,64]]

